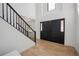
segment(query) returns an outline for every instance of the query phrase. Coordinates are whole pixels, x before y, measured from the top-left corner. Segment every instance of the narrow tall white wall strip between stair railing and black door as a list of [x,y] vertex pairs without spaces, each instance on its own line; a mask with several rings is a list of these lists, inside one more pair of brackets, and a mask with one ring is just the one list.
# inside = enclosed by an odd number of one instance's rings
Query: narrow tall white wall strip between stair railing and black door
[[41,16],[43,15],[42,3],[36,4],[36,23],[35,23],[35,30],[36,30],[36,38],[37,41],[40,39],[40,20]]

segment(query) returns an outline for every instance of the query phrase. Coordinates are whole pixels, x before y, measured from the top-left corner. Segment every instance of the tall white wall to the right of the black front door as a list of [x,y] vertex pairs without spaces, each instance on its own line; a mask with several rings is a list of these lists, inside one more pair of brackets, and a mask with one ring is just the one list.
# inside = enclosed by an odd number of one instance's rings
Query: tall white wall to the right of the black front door
[[76,4],[63,4],[63,17],[65,17],[65,45],[76,46]]

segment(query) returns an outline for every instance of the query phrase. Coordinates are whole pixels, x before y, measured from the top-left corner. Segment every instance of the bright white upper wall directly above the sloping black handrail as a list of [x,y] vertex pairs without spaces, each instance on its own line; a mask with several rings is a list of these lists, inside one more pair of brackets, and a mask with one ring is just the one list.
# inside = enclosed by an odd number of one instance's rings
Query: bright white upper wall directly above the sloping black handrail
[[35,3],[10,3],[10,5],[22,16],[36,19]]

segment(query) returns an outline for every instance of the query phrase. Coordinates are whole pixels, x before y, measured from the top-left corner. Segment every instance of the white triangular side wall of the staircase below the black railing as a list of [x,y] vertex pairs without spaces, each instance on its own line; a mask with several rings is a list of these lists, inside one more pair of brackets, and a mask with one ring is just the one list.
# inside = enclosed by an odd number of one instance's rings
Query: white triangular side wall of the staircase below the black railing
[[0,55],[13,50],[22,52],[35,46],[35,43],[0,18]]

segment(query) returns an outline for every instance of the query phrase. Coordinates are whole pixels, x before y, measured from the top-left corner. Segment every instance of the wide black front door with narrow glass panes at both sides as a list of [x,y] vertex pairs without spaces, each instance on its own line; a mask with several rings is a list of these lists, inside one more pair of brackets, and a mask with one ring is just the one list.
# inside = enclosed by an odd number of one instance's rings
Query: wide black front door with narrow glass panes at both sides
[[64,44],[64,19],[41,22],[41,39]]

